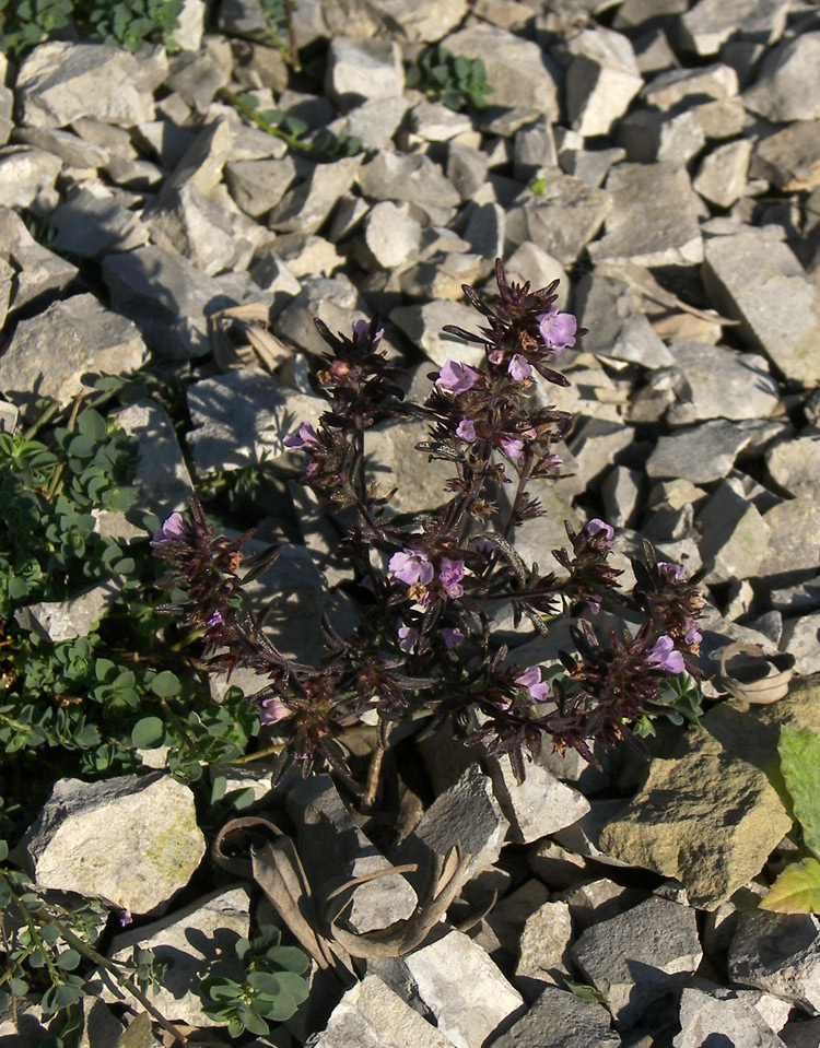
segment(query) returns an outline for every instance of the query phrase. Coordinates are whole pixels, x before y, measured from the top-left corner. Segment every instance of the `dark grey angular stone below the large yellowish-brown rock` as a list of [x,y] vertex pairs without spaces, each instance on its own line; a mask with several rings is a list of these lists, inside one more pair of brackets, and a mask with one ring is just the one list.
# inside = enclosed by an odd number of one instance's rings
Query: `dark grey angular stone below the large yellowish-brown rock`
[[572,956],[607,994],[618,1029],[629,1029],[654,1001],[694,972],[703,951],[694,910],[653,896],[587,928],[573,944]]

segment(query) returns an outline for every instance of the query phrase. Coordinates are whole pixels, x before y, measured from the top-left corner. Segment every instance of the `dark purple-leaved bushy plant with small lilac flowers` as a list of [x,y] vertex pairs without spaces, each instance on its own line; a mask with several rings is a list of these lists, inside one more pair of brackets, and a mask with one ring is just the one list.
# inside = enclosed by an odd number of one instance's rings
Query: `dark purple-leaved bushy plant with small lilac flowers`
[[[341,737],[375,710],[376,767],[396,721],[452,715],[468,743],[507,753],[520,780],[524,751],[536,758],[544,735],[558,751],[572,746],[589,761],[595,741],[625,741],[642,751],[634,729],[669,710],[665,683],[684,670],[699,675],[692,658],[703,598],[681,566],[658,562],[646,544],[645,563],[635,563],[637,585],[621,592],[621,573],[608,563],[613,529],[597,518],[579,532],[566,525],[569,546],[553,551],[564,569],[560,577],[516,553],[515,529],[543,514],[528,485],[562,475],[557,445],[572,424],[567,413],[537,405],[536,374],[567,386],[552,365],[583,332],[571,314],[555,308],[558,281],[539,291],[508,283],[499,260],[496,282],[490,301],[464,289],[484,318],[478,334],[445,329],[481,345],[483,366],[446,362],[431,374],[423,405],[402,403],[398,367],[379,349],[377,321],[359,321],[351,338],[316,321],[330,350],[316,381],[330,404],[284,443],[305,455],[302,480],[323,508],[352,511],[338,552],[350,564],[362,605],[349,636],[328,628],[318,666],[285,658],[243,610],[247,535],[234,542],[219,537],[195,501],[189,519],[174,514],[154,537],[154,552],[168,565],[160,585],[176,591],[176,611],[203,631],[210,664],[267,674],[267,686],[250,700],[262,723],[274,725],[283,738],[276,777],[294,762],[306,775],[319,759],[349,774]],[[410,414],[430,426],[419,449],[452,463],[453,475],[447,501],[408,522],[390,517],[389,495],[367,478],[365,434],[379,421]],[[502,511],[504,485],[512,497]],[[249,572],[260,566],[245,562]],[[600,637],[593,628],[589,619],[605,601],[641,612],[634,636],[611,631]],[[494,637],[491,609],[504,604],[516,627],[526,617],[541,634],[554,619],[573,617],[576,651],[561,653],[563,668],[558,675],[551,668],[549,683],[542,667],[516,663]]]

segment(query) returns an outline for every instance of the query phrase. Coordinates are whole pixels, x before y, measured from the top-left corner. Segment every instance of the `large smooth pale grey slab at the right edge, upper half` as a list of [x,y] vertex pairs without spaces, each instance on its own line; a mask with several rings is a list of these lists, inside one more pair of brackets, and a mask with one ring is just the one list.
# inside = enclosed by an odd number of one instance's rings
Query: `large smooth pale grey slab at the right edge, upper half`
[[820,380],[820,302],[792,251],[743,228],[705,245],[703,281],[718,309],[740,321],[741,335],[786,376]]

